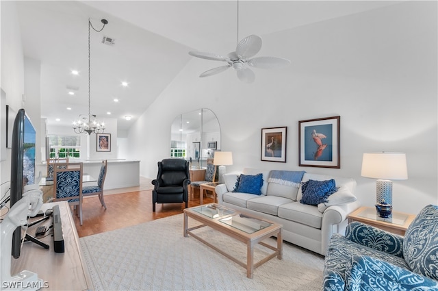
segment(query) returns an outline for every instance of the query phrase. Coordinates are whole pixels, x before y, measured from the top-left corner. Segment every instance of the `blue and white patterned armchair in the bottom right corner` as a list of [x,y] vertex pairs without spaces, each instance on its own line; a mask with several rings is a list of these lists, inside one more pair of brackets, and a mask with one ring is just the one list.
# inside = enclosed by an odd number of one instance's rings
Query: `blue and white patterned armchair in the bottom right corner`
[[438,290],[438,206],[424,207],[404,237],[359,222],[335,233],[323,290]]

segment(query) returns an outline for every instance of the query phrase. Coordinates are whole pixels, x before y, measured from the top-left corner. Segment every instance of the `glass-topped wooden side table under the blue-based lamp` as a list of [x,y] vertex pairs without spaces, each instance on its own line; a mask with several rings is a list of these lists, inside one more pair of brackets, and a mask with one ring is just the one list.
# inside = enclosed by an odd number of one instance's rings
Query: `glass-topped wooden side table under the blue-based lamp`
[[353,221],[359,221],[367,225],[372,225],[379,229],[389,231],[391,233],[404,236],[409,225],[411,225],[412,220],[415,218],[414,214],[406,214],[402,212],[393,211],[392,217],[381,218],[378,216],[376,209],[372,207],[359,207],[354,212],[350,213],[348,218],[348,223]]

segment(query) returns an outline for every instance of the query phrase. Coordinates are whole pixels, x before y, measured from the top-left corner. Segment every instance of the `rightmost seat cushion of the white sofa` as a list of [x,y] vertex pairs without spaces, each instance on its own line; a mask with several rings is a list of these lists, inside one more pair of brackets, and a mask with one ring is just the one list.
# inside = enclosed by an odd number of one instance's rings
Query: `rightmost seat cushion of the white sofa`
[[318,211],[318,207],[301,204],[299,202],[291,202],[279,205],[279,217],[287,220],[295,221],[309,227],[321,229],[322,213]]

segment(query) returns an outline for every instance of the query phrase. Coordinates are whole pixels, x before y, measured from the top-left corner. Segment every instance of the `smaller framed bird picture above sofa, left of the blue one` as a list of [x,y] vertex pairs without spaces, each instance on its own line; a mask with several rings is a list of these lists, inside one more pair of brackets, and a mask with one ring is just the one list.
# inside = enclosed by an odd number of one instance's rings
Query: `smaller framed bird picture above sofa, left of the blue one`
[[286,162],[287,127],[261,129],[261,160]]

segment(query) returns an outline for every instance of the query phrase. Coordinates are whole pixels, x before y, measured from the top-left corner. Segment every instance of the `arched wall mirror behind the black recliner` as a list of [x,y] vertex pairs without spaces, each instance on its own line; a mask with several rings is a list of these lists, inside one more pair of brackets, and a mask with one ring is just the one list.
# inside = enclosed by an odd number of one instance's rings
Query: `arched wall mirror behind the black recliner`
[[170,129],[170,157],[192,160],[192,168],[205,168],[207,158],[220,150],[220,125],[216,114],[201,108],[179,114]]

